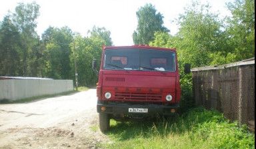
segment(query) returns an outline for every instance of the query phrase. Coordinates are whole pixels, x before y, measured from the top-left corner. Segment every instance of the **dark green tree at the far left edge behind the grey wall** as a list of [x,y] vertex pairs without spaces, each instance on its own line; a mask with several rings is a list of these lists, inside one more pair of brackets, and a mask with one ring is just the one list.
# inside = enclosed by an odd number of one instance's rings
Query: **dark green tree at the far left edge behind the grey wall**
[[10,16],[3,19],[0,27],[0,76],[19,76],[21,38]]

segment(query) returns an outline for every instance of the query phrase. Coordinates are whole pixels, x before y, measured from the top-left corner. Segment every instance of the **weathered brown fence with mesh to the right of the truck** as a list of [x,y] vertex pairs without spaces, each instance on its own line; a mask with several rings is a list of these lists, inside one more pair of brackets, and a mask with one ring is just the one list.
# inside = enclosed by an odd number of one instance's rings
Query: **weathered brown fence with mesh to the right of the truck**
[[255,122],[255,59],[228,65],[199,67],[193,73],[197,105],[215,108],[239,124]]

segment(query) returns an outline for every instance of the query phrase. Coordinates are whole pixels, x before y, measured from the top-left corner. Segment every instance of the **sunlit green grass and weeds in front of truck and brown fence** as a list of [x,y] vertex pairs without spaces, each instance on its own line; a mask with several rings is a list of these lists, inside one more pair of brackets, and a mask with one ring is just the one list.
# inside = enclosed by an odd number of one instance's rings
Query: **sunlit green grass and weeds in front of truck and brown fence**
[[229,122],[216,110],[198,107],[170,119],[146,122],[111,120],[103,148],[255,148],[255,134]]

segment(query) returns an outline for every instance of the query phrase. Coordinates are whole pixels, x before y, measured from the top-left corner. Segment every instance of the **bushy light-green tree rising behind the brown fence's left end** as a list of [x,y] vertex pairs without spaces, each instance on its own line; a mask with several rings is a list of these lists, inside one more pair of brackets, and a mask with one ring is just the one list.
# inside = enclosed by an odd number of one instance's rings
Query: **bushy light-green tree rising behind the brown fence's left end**
[[177,24],[179,33],[174,42],[181,63],[191,63],[193,67],[209,65],[209,55],[221,49],[221,26],[218,15],[210,12],[210,6],[193,1],[185,8]]

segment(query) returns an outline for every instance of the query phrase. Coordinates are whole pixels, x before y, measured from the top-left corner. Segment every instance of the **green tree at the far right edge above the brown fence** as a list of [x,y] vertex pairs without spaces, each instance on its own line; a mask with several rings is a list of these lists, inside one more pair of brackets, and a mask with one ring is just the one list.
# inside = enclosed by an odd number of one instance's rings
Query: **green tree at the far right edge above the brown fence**
[[232,13],[227,31],[233,45],[235,61],[255,57],[255,1],[236,0],[228,3]]

